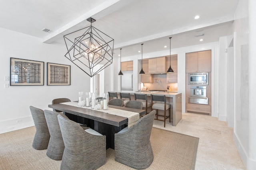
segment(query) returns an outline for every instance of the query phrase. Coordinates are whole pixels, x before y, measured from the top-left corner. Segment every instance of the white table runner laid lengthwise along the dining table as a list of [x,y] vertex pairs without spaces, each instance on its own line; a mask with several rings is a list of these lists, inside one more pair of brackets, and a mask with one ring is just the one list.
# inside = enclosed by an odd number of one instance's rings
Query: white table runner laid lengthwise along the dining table
[[[61,103],[61,104],[66,104],[66,105],[75,106],[75,107],[81,107],[81,106],[78,106],[77,102],[64,102],[64,103]],[[95,110],[95,109],[92,109],[91,107],[85,107],[85,106],[82,106],[82,108]],[[140,114],[139,113],[136,113],[136,112],[133,112],[133,111],[115,109],[115,108],[111,108],[111,107],[108,107],[107,110],[98,109],[98,110],[95,110],[95,111],[101,111],[101,112],[104,112],[104,113],[109,113],[109,114],[112,114],[112,115],[118,115],[118,116],[128,118],[128,128],[133,127],[137,123],[137,121],[140,119]]]

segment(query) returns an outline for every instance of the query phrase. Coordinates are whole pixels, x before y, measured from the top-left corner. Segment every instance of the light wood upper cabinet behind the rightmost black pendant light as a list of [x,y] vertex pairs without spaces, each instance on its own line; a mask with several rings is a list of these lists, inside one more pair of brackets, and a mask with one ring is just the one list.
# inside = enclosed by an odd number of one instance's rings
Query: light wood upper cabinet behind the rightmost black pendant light
[[[170,57],[166,57],[166,69],[170,67]],[[178,82],[178,55],[171,55],[171,67],[174,73],[166,74],[167,83],[177,83]]]

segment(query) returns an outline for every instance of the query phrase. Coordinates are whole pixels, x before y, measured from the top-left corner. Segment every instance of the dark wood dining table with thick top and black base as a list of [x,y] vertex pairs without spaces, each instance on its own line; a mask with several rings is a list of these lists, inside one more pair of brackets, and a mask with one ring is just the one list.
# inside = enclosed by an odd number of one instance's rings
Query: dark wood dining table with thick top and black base
[[[69,115],[72,115],[72,117],[69,117],[71,119],[75,116],[76,119],[73,119],[74,121],[77,121],[78,123],[86,123],[86,125],[90,126],[90,128],[101,133],[102,135],[106,135],[106,149],[114,149],[114,134],[122,130],[125,127],[125,124],[128,123],[128,118],[126,117],[104,113],[99,110],[86,109],[83,107],[70,106],[66,104],[49,104],[48,107],[63,111],[63,113],[68,117]],[[108,107],[136,112],[139,113],[140,116],[146,113],[145,110],[141,109],[112,105],[109,105]],[[80,119],[77,119],[77,117],[80,117]],[[81,118],[83,119],[82,121]]]

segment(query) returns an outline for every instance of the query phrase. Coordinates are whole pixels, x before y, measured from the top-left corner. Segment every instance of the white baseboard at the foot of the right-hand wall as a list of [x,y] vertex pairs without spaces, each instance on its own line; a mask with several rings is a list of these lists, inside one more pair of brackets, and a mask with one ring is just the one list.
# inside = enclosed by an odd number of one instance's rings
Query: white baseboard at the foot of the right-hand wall
[[256,160],[252,160],[251,158],[248,157],[248,154],[246,153],[244,147],[241,145],[240,140],[238,139],[236,133],[234,133],[234,142],[236,144],[236,149],[238,150],[246,169],[255,170]]

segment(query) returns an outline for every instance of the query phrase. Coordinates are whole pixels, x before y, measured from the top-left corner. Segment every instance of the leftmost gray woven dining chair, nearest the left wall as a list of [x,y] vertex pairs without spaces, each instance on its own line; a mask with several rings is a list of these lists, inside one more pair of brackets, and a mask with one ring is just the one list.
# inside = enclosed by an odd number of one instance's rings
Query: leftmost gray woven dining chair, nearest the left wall
[[47,149],[50,140],[50,133],[44,116],[44,111],[33,106],[30,106],[29,108],[36,127],[32,147],[36,150]]

